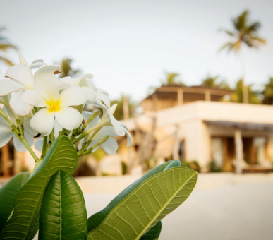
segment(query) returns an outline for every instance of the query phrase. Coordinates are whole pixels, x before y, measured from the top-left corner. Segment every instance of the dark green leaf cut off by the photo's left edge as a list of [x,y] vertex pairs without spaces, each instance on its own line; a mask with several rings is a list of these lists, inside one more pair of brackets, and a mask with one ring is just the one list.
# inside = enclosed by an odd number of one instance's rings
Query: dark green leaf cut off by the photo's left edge
[[21,172],[0,188],[0,232],[13,210],[14,200],[20,188],[30,177],[29,172]]

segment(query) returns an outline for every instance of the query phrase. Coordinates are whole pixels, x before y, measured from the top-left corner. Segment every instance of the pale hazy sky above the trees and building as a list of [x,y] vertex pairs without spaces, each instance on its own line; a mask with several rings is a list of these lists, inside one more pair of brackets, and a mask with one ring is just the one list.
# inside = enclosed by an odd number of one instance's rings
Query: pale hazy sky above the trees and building
[[[230,40],[219,30],[232,30],[231,19],[245,9],[267,40],[259,49],[243,48],[245,83],[258,89],[273,77],[271,0],[2,0],[0,26],[29,63],[71,58],[111,99],[123,94],[140,101],[166,71],[179,73],[186,85],[210,74],[235,86],[241,56],[219,52]],[[18,62],[18,52],[7,54]],[[0,71],[3,76],[6,67]]]

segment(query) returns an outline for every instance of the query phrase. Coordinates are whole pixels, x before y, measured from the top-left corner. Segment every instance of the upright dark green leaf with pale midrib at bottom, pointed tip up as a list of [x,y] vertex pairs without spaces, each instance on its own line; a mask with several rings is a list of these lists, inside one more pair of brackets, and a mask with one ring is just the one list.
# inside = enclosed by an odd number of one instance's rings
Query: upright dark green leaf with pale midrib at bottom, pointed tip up
[[87,215],[85,200],[75,179],[58,171],[44,192],[40,212],[39,239],[85,239]]

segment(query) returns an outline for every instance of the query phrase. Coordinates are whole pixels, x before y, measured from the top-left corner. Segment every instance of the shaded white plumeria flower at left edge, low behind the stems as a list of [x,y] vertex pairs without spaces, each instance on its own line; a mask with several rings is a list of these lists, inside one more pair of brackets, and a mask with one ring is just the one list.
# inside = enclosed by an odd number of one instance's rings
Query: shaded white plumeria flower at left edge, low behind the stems
[[[8,116],[8,118],[13,121],[13,124],[16,125],[16,121],[14,120],[15,118],[12,113],[8,111],[6,107],[3,107],[3,111]],[[35,131],[30,128],[29,122],[30,119],[25,118],[24,137],[25,140],[28,142],[28,145],[32,146],[34,143],[33,136],[35,136],[37,133],[35,133]],[[13,133],[11,125],[8,124],[6,119],[0,116],[0,148],[6,145],[11,140],[11,138],[13,138],[14,147],[16,148],[16,150],[18,150],[18,152],[25,152],[27,150],[27,148],[25,148],[25,145],[23,145],[23,143],[21,143],[17,136]]]

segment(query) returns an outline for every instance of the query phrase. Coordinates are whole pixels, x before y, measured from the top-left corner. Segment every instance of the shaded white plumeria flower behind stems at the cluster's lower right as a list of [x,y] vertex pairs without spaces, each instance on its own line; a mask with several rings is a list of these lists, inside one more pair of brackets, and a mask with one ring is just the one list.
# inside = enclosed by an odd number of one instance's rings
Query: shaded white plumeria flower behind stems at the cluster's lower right
[[[87,121],[90,116],[92,116],[91,112],[83,112],[83,119]],[[99,124],[99,118],[96,116],[95,119],[93,119],[89,124],[87,124],[87,130],[91,129]],[[91,133],[88,134],[88,137],[92,136],[92,131]],[[92,142],[90,145],[87,147],[87,149],[91,148],[93,145],[98,143],[100,140],[105,138],[106,136],[113,136],[116,137],[118,136],[115,131],[113,126],[104,126],[99,132],[97,132],[92,138]],[[79,147],[81,148],[81,145],[83,144],[83,140],[80,140]],[[105,152],[107,152],[109,155],[113,155],[116,153],[116,150],[118,149],[118,143],[116,143],[116,140],[114,138],[108,138],[104,143],[101,144],[102,148],[104,149]],[[95,152],[97,150],[97,147],[92,150],[92,152]]]

